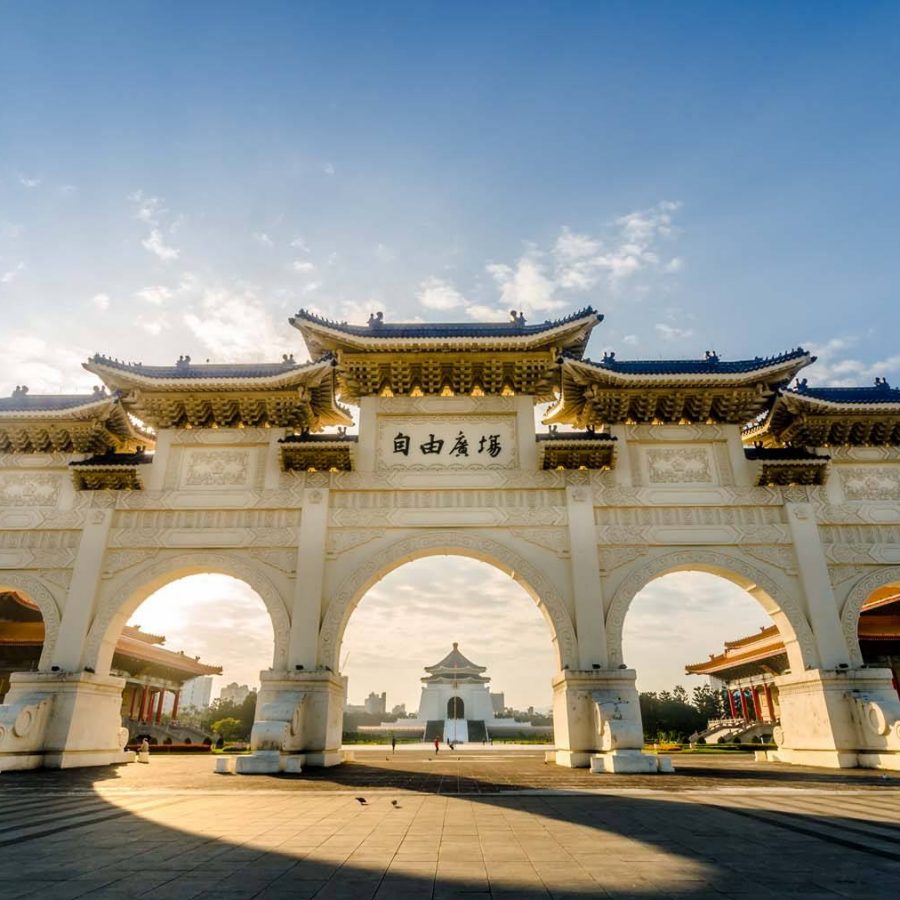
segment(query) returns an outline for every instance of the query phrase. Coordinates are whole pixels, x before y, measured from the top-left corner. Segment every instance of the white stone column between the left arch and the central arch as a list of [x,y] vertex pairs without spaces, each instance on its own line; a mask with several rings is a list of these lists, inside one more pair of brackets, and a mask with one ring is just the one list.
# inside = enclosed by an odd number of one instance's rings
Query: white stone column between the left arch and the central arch
[[291,610],[288,668],[316,667],[322,587],[325,575],[325,535],[328,530],[328,489],[306,488],[300,515],[297,574]]

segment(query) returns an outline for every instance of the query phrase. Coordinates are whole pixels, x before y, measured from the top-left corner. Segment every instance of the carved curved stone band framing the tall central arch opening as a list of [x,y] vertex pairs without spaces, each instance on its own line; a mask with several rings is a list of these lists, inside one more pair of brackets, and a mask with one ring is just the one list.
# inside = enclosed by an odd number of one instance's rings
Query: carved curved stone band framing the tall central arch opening
[[455,531],[429,531],[419,537],[397,541],[369,557],[347,577],[332,596],[319,630],[319,661],[338,671],[338,652],[344,629],[365,592],[402,562],[433,552],[446,551],[482,559],[507,572],[530,589],[551,624],[557,645],[560,668],[577,665],[578,643],[575,628],[563,599],[550,581],[531,563],[497,541],[476,534]]

